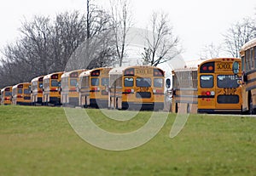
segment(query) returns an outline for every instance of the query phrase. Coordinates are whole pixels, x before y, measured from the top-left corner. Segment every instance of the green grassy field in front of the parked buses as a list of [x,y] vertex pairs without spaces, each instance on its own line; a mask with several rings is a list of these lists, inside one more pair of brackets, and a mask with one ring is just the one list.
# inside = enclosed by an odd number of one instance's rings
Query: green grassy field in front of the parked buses
[[[99,110],[87,112],[119,133],[140,128],[151,114],[115,122]],[[170,139],[174,119],[170,114],[147,144],[111,151],[80,139],[62,108],[2,105],[0,175],[256,175],[256,118],[191,115]]]

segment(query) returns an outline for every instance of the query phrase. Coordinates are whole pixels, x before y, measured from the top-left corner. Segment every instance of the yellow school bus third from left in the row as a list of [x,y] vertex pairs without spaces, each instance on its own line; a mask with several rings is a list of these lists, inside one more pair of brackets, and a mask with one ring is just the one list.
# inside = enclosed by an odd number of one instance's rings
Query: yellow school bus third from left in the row
[[41,77],[35,77],[31,81],[32,105],[42,105],[43,103],[43,79],[44,79],[44,76],[41,76]]

